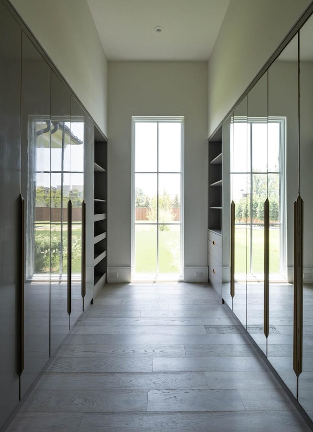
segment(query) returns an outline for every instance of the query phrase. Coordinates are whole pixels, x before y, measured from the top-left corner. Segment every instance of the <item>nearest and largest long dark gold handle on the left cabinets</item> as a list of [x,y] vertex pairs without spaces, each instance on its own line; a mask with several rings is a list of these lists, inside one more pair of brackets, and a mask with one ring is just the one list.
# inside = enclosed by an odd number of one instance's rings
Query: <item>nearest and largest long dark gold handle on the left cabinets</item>
[[17,371],[18,375],[21,376],[22,371],[24,370],[24,283],[25,283],[25,268],[24,268],[24,250],[25,250],[25,201],[20,194],[19,201],[19,238],[20,238],[20,247],[19,247],[19,272],[18,272],[18,286],[19,286],[19,299],[17,302],[18,307],[18,336],[17,336],[17,345],[18,345],[18,364]]

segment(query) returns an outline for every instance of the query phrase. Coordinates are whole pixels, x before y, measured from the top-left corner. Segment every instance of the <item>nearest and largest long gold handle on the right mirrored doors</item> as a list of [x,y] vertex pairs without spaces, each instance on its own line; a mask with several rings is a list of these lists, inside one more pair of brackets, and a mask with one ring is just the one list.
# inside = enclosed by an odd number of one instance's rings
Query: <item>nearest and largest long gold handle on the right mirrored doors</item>
[[303,338],[303,200],[300,195],[294,202],[293,271],[293,370],[298,378],[302,372]]

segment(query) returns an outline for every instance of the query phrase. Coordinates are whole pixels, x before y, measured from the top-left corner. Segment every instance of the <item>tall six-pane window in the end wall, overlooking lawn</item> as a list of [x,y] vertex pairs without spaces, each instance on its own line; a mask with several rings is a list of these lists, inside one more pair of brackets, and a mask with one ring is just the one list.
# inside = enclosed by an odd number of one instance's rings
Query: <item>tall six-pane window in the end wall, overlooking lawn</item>
[[183,117],[133,117],[132,278],[180,279]]

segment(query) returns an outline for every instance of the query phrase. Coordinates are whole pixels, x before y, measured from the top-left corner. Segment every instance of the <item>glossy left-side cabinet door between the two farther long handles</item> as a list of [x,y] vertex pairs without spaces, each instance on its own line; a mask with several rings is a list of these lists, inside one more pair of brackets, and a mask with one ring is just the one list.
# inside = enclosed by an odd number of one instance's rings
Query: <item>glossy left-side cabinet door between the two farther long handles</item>
[[[83,243],[83,201],[84,201],[84,147],[85,113],[81,106],[71,98],[70,117],[70,170],[68,201],[68,249],[67,270],[70,278],[69,312],[72,327],[83,311],[82,290],[82,247]],[[66,187],[66,185],[65,185]]]

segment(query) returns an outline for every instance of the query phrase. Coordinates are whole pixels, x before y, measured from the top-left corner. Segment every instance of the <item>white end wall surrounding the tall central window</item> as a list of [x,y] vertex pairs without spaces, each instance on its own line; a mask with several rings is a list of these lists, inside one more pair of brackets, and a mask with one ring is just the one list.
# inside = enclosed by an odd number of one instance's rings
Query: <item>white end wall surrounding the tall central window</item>
[[131,266],[132,116],[185,116],[184,265],[207,266],[207,63],[109,62],[108,266]]

